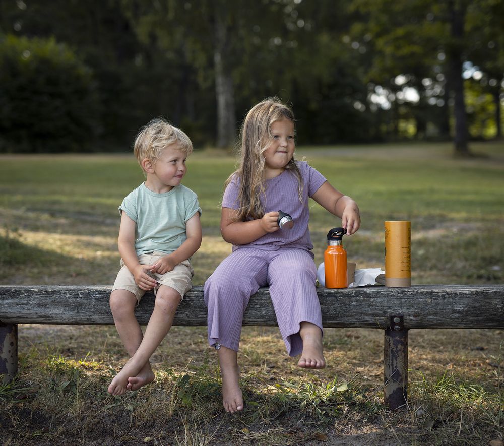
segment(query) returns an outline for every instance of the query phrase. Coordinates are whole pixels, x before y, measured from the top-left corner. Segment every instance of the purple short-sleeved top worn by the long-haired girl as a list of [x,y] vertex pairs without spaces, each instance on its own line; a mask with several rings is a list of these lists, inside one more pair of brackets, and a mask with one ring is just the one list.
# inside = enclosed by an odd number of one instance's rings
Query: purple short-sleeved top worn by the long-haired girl
[[[266,198],[261,198],[265,213],[279,210],[287,212],[294,221],[294,227],[290,230],[279,229],[276,232],[268,233],[245,245],[233,245],[233,251],[245,246],[253,246],[268,251],[277,250],[282,246],[305,250],[313,249],[308,230],[308,198],[317,192],[319,187],[326,181],[326,178],[305,161],[297,161],[297,166],[303,181],[302,203],[299,200],[299,182],[295,173],[290,170],[284,170],[275,178],[267,179]],[[238,181],[234,177],[226,187],[222,198],[223,208],[239,208]]]

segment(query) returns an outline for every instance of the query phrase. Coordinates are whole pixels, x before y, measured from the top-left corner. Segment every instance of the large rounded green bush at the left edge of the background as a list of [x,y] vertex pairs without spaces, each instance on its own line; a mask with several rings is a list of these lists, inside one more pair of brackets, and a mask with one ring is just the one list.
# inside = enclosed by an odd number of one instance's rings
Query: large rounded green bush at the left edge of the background
[[89,149],[98,109],[91,71],[67,45],[0,36],[0,151]]

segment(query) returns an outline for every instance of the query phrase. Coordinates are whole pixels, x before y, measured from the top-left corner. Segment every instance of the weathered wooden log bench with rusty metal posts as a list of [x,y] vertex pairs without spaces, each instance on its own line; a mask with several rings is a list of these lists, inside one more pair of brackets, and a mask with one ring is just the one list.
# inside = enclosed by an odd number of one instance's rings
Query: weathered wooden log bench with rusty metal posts
[[[0,374],[17,373],[17,324],[113,325],[109,286],[0,286]],[[504,328],[504,285],[428,285],[410,288],[317,288],[324,327],[384,330],[384,400],[407,402],[408,330]],[[154,305],[148,293],[137,308],[142,325]],[[203,287],[188,292],[174,325],[206,326]],[[244,326],[276,326],[268,288],[251,299]]]

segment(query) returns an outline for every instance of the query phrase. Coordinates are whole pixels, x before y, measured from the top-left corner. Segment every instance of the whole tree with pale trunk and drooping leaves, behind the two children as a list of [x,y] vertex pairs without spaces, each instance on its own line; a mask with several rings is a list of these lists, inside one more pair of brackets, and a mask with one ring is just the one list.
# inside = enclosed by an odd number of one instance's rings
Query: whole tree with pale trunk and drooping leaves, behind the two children
[[[257,66],[265,67],[263,62],[271,60],[271,54],[282,59],[285,40],[280,36],[288,33],[285,16],[296,5],[294,0],[184,3],[164,0],[154,5],[123,1],[124,10],[142,41],[159,45],[167,54],[183,53],[200,87],[213,79],[218,147],[229,147],[236,138],[235,85],[238,83],[240,89],[249,91],[253,82],[250,72],[257,73]],[[276,41],[280,43],[277,45]],[[278,63],[275,57],[273,60]],[[262,77],[275,77],[275,69],[267,67]]]

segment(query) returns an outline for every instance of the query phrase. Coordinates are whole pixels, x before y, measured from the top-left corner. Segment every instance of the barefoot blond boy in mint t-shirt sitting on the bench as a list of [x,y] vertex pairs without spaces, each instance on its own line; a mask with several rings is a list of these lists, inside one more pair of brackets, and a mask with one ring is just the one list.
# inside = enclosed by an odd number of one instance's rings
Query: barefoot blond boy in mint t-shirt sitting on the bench
[[[149,358],[192,287],[190,258],[201,245],[201,208],[196,194],[180,184],[192,152],[187,135],[162,119],[150,121],[135,141],[134,153],[146,180],[119,207],[122,268],[110,294],[115,327],[132,357],[112,379],[112,395],[154,380]],[[142,335],[135,307],[152,289],[154,310]]]

